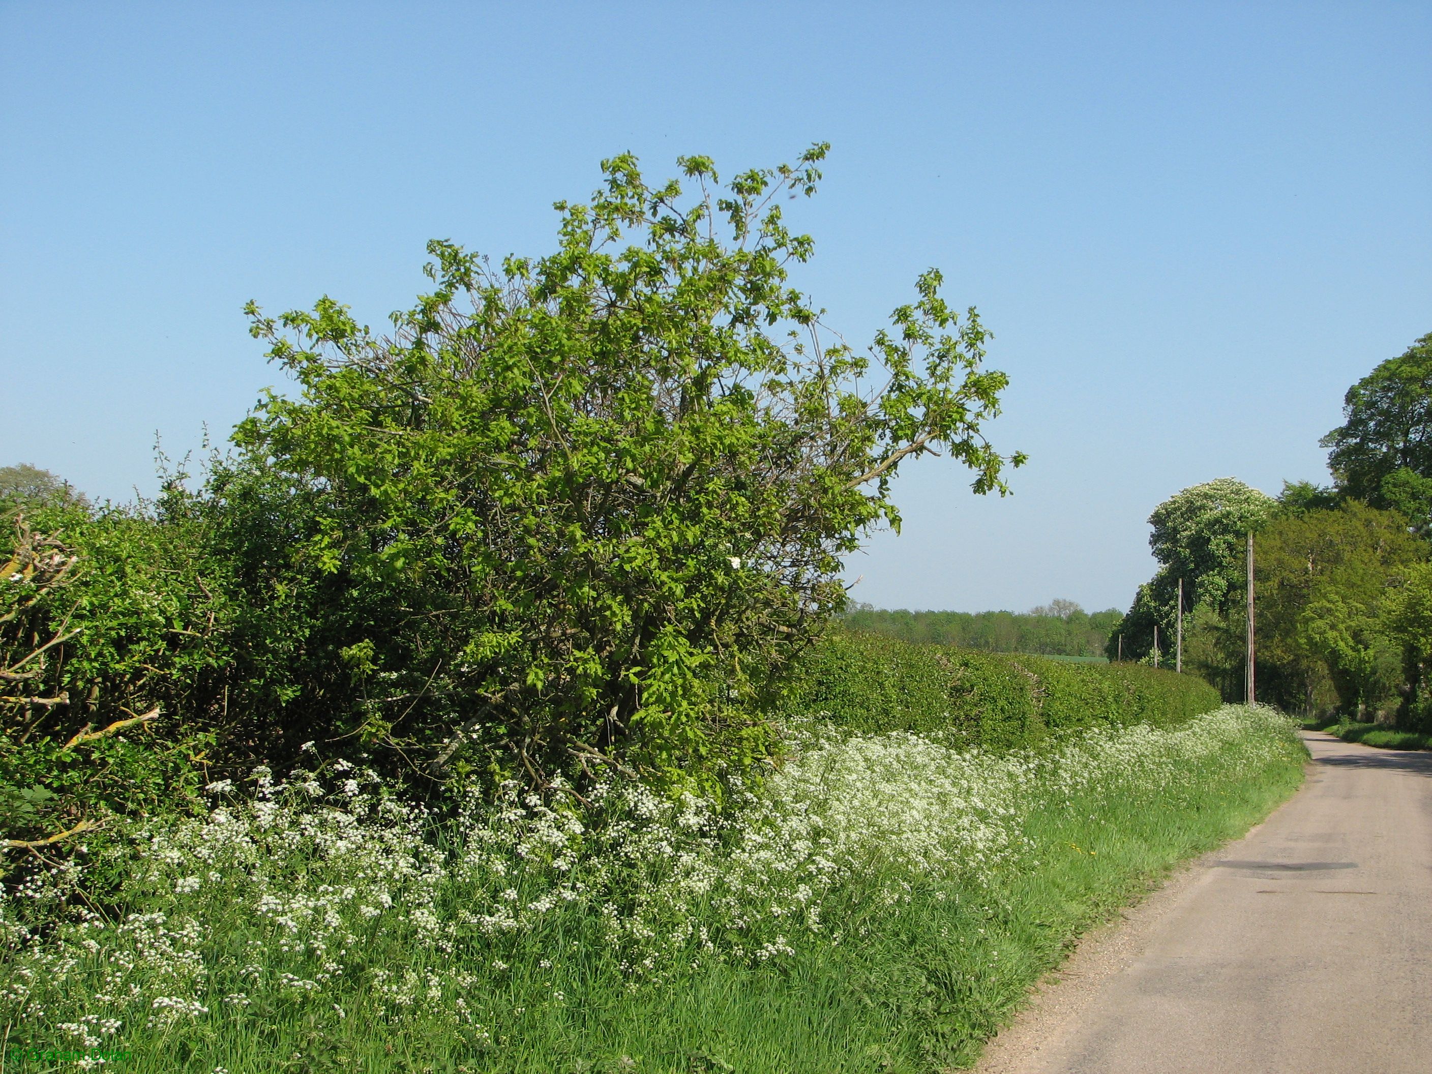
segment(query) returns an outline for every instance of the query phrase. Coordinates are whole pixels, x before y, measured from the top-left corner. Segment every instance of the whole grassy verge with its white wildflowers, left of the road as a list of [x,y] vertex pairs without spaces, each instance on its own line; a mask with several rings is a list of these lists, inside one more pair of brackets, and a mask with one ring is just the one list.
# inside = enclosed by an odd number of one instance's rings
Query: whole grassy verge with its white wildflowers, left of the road
[[205,1074],[959,1067],[1073,935],[1303,759],[1234,706],[1040,752],[790,735],[723,809],[508,786],[437,822],[341,763],[215,785],[208,816],[6,901],[4,1068],[21,1045]]

